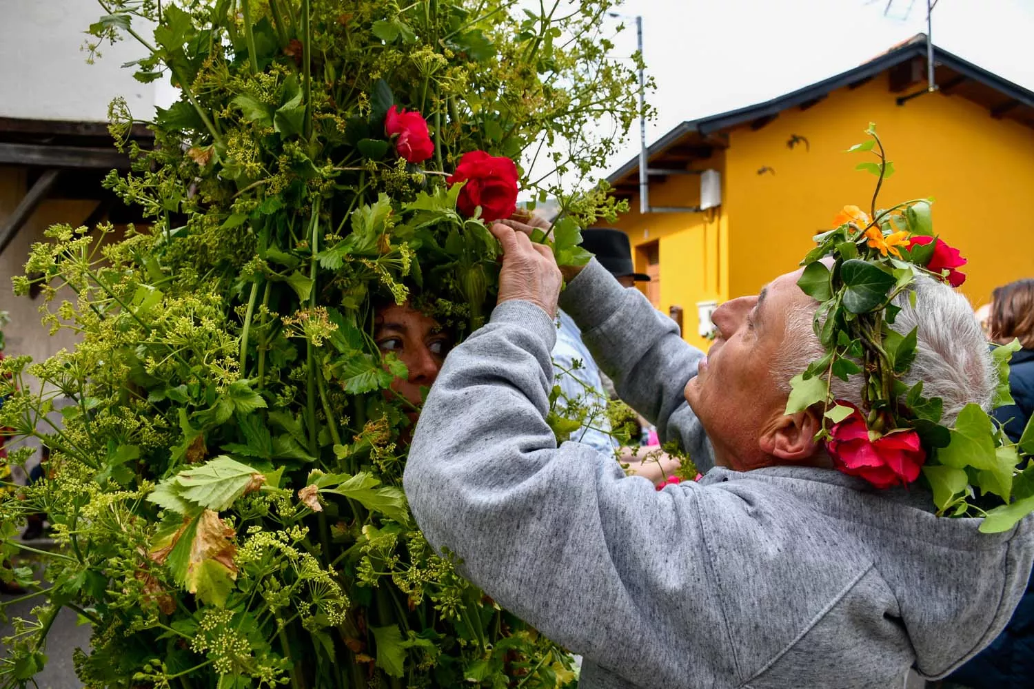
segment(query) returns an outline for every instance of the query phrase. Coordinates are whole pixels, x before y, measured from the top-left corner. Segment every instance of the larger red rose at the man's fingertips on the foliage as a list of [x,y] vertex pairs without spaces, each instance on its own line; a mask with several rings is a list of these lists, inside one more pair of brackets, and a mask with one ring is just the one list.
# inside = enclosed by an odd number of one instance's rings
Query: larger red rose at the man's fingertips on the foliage
[[509,218],[517,210],[517,165],[510,158],[484,151],[464,153],[447,182],[466,182],[456,200],[463,215],[473,217],[480,206],[481,219],[492,222]]

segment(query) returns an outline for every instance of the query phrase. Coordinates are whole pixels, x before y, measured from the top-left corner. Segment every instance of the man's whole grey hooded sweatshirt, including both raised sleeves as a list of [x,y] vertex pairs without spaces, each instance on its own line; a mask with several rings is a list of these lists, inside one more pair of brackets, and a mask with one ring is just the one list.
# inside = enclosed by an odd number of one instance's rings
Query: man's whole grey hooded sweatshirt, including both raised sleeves
[[[619,395],[708,466],[682,398],[701,353],[592,261],[562,294]],[[901,687],[1001,631],[1027,585],[1030,520],[981,534],[918,486],[834,470],[712,468],[656,491],[544,419],[553,321],[520,301],[450,353],[404,487],[436,547],[584,657],[583,688]],[[703,468],[702,467],[702,468]]]

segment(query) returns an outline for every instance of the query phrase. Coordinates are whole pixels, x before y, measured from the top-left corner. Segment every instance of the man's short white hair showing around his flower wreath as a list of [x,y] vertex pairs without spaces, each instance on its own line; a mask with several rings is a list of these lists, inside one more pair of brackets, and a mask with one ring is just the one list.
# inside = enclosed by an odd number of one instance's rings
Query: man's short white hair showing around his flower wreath
[[[941,398],[944,402],[941,424],[945,426],[953,424],[959,412],[970,403],[991,411],[998,373],[973,307],[965,296],[933,278],[919,276],[912,286],[914,308],[907,291],[893,302],[902,310],[891,327],[901,335],[916,328],[916,356],[903,382],[911,387],[921,380],[923,397]],[[825,354],[813,326],[817,308],[812,302],[786,316],[786,334],[772,375],[787,393],[790,379]],[[860,405],[861,385],[860,374],[851,376],[847,382],[834,376],[830,392],[834,399]]]

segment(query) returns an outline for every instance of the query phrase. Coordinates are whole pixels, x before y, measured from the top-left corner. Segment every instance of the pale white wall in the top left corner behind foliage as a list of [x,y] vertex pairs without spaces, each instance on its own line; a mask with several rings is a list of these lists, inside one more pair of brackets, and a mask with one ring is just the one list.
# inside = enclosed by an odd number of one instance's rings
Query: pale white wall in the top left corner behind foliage
[[145,55],[133,38],[86,63],[84,31],[103,13],[95,0],[0,0],[0,117],[107,122],[109,102],[123,96],[135,119],[152,119],[161,87],[121,66]]

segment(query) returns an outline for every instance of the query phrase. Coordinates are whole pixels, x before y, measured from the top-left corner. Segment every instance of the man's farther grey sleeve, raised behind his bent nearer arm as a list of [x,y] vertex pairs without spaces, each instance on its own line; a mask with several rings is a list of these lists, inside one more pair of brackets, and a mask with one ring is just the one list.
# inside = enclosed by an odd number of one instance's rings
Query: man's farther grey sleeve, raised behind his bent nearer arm
[[560,306],[581,327],[617,395],[657,426],[662,441],[678,439],[701,471],[710,468],[710,446],[682,394],[703,352],[687,344],[675,322],[638,289],[621,287],[596,260],[571,280]]

